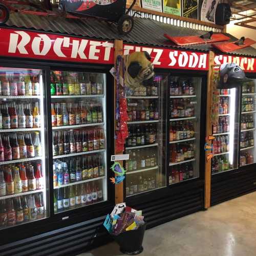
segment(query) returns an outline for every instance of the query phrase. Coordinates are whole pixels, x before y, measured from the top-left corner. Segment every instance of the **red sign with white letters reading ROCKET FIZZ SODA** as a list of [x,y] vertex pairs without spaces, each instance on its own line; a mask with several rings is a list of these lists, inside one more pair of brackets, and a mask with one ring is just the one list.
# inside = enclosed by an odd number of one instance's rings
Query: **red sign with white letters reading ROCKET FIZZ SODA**
[[[114,43],[32,31],[0,29],[0,55],[10,57],[114,64]],[[155,68],[208,70],[208,54],[124,45],[124,55],[147,51]]]

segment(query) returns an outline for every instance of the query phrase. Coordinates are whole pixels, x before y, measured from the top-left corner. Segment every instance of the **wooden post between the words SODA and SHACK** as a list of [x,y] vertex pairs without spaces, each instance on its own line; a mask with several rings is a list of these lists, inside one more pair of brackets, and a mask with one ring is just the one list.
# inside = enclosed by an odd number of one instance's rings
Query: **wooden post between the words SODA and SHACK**
[[[212,70],[214,69],[214,52],[209,52],[209,71],[207,77],[207,105],[206,105],[206,140],[205,142],[211,144],[208,140],[208,136],[212,135]],[[205,184],[204,184],[204,207],[207,209],[210,207],[210,187],[211,187],[211,161],[207,161],[207,151],[205,153]]]

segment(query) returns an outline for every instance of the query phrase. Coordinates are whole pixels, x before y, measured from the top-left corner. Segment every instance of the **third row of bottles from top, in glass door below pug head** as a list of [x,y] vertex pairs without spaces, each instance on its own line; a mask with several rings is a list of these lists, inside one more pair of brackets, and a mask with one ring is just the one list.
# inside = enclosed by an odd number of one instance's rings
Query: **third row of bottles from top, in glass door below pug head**
[[156,125],[129,125],[128,132],[129,135],[126,138],[126,147],[149,145],[156,143]]

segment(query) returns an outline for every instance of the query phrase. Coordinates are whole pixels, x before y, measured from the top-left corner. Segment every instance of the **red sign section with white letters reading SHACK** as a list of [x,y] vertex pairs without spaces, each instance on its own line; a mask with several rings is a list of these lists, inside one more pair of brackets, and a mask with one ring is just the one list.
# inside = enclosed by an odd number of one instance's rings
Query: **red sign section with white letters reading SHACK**
[[214,58],[215,65],[224,63],[237,63],[244,72],[256,72],[256,59],[229,55],[216,55]]

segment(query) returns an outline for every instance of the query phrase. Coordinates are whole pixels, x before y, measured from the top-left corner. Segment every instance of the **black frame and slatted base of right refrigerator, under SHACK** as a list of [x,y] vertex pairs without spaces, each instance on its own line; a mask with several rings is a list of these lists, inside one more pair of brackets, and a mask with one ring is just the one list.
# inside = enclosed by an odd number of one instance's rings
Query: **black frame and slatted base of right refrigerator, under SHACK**
[[[246,77],[256,79],[254,73],[246,73]],[[240,166],[240,139],[241,139],[241,108],[242,88],[240,90],[240,115],[238,133],[238,168],[211,175],[210,206],[246,195],[256,191],[256,163]],[[254,126],[256,124],[254,123]],[[254,143],[255,144],[255,143]],[[255,161],[255,159],[254,159]]]

